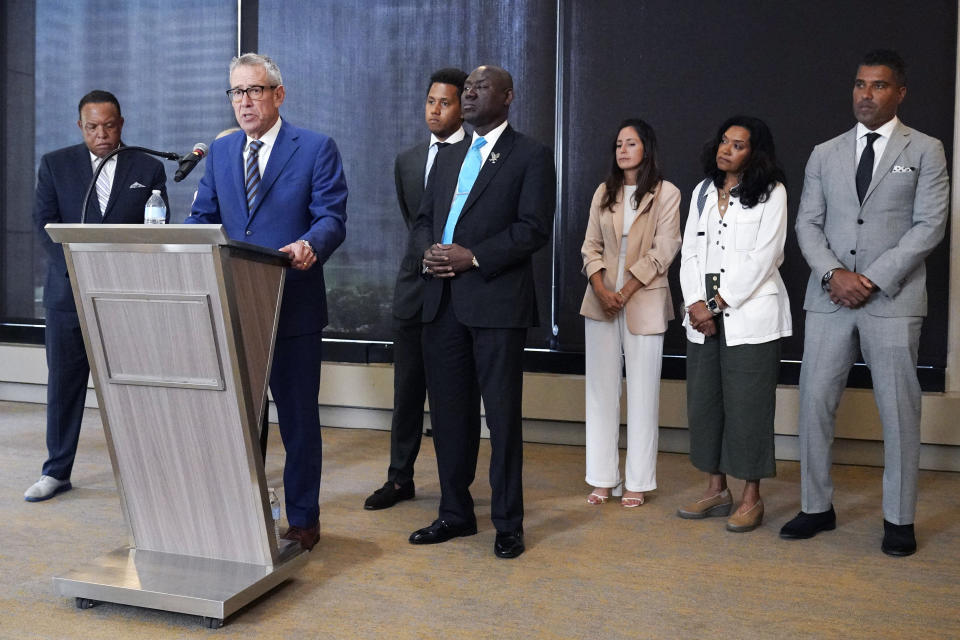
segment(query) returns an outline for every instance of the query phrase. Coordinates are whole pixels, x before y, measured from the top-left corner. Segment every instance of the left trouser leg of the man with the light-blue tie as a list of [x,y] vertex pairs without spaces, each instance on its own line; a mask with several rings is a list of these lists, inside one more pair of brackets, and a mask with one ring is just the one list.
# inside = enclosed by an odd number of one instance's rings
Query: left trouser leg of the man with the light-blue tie
[[480,391],[470,330],[457,320],[449,287],[444,289],[436,318],[424,325],[423,359],[440,477],[439,518],[467,525],[477,520],[470,485],[480,448]]

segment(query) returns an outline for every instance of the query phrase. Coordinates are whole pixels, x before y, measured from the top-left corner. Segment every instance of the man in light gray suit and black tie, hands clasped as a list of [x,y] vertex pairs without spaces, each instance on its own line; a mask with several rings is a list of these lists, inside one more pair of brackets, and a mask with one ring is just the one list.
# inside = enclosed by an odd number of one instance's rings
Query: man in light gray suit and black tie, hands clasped
[[906,94],[900,56],[868,53],[853,85],[859,124],[818,145],[807,162],[797,213],[811,269],[800,371],[802,511],[780,530],[782,538],[799,539],[836,527],[830,447],[859,349],[883,423],[881,549],[894,556],[917,549],[924,258],[943,238],[949,205],[943,145],[897,118]]

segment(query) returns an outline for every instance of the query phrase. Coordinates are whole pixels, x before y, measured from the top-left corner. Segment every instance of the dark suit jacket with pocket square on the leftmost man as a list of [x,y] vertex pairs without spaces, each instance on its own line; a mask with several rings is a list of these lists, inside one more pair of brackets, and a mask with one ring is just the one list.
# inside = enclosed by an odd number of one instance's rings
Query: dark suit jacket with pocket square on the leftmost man
[[[43,227],[50,222],[80,222],[80,206],[92,178],[90,152],[84,144],[51,151],[40,160],[33,220],[40,234],[40,244],[47,253],[43,306],[48,309],[75,311],[76,306],[63,258],[63,247],[51,240]],[[160,189],[164,202],[167,201],[166,181],[167,176],[159,160],[139,151],[118,154],[107,210],[101,218],[97,193],[93,191],[87,203],[87,222],[143,223],[143,207],[153,189]],[[168,219],[169,215],[170,204],[167,203]]]

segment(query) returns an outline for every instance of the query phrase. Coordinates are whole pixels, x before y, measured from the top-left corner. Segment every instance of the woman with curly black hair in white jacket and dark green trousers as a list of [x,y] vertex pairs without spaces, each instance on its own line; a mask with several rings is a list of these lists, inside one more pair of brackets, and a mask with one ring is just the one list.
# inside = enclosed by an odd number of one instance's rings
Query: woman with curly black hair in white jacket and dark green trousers
[[[779,267],[787,192],[773,136],[757,118],[728,119],[703,154],[683,233],[690,461],[708,474],[682,518],[729,516],[727,529],[763,520],[761,478],[776,474],[773,420],[780,338],[792,331]],[[739,508],[727,475],[745,481]]]

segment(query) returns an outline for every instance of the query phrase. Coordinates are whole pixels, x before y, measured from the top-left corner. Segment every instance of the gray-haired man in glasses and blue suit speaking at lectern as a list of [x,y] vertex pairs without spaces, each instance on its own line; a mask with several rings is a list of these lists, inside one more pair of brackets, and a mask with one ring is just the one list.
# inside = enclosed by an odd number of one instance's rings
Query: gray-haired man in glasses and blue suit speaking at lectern
[[230,63],[227,96],[242,131],[214,141],[186,222],[223,224],[227,235],[290,255],[270,391],[287,451],[287,540],[320,538],[321,332],[327,324],[323,264],[346,235],[347,183],[332,139],[280,118],[280,69],[246,53]]

